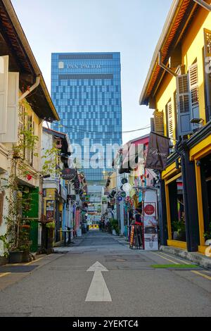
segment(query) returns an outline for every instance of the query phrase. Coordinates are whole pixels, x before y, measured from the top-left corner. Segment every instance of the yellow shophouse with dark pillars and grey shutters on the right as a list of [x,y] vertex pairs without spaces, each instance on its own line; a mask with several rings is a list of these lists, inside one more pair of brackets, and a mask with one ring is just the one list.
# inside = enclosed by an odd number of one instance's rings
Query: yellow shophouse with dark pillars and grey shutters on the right
[[161,174],[161,243],[201,253],[211,239],[209,4],[173,1],[140,96],[155,110],[152,131],[172,145]]

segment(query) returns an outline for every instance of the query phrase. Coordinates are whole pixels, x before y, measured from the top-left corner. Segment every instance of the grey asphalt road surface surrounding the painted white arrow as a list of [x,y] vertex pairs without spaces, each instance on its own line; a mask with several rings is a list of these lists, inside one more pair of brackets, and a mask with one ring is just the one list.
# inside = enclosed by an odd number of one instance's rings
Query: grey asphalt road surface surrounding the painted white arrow
[[[31,263],[37,267],[30,273],[0,273],[0,316],[211,316],[209,271],[152,268],[181,261],[130,250],[123,239],[98,231],[76,242]],[[102,275],[112,301],[86,301],[94,277],[87,270],[97,261],[108,270]]]

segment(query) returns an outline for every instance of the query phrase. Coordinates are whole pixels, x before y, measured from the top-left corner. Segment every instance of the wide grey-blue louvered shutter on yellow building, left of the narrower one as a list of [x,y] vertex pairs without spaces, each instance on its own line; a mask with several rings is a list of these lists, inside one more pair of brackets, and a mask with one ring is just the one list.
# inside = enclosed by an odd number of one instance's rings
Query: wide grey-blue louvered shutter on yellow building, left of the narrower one
[[191,128],[191,97],[188,85],[188,75],[180,75],[177,80],[177,110],[178,110],[178,134],[189,135]]

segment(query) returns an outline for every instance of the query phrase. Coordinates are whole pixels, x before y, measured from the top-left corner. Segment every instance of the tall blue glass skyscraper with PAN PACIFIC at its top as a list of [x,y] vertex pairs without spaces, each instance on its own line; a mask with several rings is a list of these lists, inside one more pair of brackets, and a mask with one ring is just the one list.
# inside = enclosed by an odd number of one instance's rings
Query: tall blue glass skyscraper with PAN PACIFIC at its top
[[[120,53],[52,54],[51,98],[60,115],[53,130],[67,132],[71,143],[82,146],[80,168],[87,181],[98,184],[112,168],[106,147],[122,145]],[[100,168],[91,168],[98,144],[104,147]]]

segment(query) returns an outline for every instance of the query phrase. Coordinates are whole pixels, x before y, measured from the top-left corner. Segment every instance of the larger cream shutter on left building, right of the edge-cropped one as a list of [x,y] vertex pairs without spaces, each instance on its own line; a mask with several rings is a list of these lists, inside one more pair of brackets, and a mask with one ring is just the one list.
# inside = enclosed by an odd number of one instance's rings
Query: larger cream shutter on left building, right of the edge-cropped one
[[19,73],[8,73],[6,133],[0,135],[0,142],[18,142],[18,92]]

